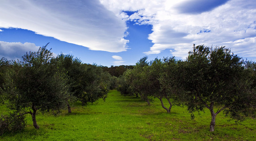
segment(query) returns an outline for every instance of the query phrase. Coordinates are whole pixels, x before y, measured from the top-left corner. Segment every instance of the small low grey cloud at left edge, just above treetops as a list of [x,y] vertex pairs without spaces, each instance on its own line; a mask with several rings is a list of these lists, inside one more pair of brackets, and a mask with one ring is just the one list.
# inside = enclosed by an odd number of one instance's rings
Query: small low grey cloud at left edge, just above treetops
[[34,43],[30,42],[3,42],[0,41],[0,58],[5,57],[7,60],[22,60],[22,56],[29,51],[37,51],[39,49]]

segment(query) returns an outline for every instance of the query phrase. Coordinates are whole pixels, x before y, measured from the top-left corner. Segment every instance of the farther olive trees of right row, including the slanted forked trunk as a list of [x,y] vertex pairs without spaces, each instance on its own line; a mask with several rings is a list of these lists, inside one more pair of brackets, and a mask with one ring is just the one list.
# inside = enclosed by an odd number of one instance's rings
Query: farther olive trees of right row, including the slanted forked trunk
[[[170,113],[172,95],[168,94],[167,89],[160,83],[160,76],[164,73],[164,63],[157,58],[150,62],[147,59],[147,56],[142,57],[133,70],[126,71],[118,90],[123,95],[140,94],[142,100],[147,101],[148,104],[153,97],[156,97],[167,113]],[[163,99],[168,100],[169,108],[164,106]]]

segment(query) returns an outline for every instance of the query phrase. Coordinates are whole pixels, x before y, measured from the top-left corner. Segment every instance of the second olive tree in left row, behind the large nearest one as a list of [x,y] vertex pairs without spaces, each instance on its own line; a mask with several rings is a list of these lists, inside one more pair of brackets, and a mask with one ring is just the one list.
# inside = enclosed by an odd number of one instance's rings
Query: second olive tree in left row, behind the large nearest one
[[[110,87],[110,74],[103,72],[96,64],[85,64],[78,58],[71,55],[60,54],[56,58],[59,70],[68,75],[70,85],[70,102],[78,99],[82,105],[102,98],[106,99]],[[75,97],[75,99],[74,99]],[[71,113],[70,104],[68,112]]]

